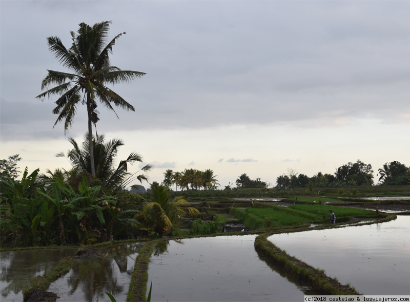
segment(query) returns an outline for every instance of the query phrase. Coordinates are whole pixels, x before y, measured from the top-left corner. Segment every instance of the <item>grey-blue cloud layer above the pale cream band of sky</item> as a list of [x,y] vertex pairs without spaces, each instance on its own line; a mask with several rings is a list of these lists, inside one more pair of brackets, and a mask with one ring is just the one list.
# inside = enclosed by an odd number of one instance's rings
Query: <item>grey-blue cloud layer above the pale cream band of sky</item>
[[[0,5],[2,140],[64,136],[63,125],[52,129],[55,99],[34,99],[46,69],[66,71],[48,51],[46,37],[59,36],[69,47],[70,30],[101,20],[113,21],[111,38],[127,31],[113,47],[113,64],[147,72],[132,84],[113,87],[137,112],[118,109],[118,121],[100,105],[101,133],[410,120],[408,2]],[[80,105],[71,133],[85,131],[86,121]]]

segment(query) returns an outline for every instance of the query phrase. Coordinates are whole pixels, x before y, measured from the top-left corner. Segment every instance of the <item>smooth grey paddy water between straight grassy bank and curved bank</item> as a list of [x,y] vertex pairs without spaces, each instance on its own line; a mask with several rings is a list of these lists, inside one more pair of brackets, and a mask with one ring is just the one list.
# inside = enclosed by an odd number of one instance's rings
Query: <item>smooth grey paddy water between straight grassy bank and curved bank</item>
[[302,301],[301,286],[258,257],[255,238],[164,241],[149,263],[151,301]]

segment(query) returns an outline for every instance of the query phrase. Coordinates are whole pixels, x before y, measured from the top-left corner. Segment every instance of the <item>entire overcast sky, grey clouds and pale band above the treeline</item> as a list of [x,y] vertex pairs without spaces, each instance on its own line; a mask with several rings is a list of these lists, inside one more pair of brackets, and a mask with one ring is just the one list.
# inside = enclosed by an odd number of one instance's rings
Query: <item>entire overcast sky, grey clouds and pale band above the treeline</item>
[[[313,176],[360,159],[410,165],[410,2],[4,1],[1,13],[1,158],[22,170],[69,168],[56,99],[35,99],[47,48],[85,22],[112,21],[112,65],[147,74],[113,87],[136,107],[103,106],[99,134],[124,139],[156,168],[212,169],[221,185],[247,173],[275,183],[286,168]],[[137,166],[131,168],[136,172]],[[376,181],[377,182],[377,181]],[[147,186],[147,184],[144,184]]]

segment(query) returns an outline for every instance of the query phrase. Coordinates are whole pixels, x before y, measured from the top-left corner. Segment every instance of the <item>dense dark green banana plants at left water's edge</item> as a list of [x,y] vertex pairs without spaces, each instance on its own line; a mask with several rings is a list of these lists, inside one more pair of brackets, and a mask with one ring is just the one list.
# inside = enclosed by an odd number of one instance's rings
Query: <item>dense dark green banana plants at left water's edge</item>
[[12,189],[7,191],[12,197],[10,216],[1,221],[3,245],[74,245],[127,239],[132,237],[132,225],[138,223],[132,218],[141,204],[138,196],[128,193],[117,200],[104,196],[100,186],[88,186],[85,176],[77,192],[58,178],[49,182],[49,191],[40,186],[30,198],[13,195]]

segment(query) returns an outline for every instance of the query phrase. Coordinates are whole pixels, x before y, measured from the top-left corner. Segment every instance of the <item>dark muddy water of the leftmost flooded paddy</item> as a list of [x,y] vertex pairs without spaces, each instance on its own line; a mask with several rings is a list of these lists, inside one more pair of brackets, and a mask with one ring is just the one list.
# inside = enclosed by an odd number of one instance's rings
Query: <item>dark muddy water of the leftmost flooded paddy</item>
[[0,252],[0,289],[2,301],[23,301],[23,292],[36,275],[44,274],[75,249],[47,249]]

